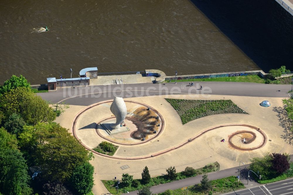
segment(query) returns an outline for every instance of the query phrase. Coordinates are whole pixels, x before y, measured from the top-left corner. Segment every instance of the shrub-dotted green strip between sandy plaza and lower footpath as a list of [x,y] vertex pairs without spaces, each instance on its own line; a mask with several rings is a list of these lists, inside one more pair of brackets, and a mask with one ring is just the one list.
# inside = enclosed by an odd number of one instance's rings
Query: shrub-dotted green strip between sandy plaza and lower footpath
[[[157,177],[152,177],[149,184],[142,184],[141,179],[133,179],[133,181],[134,180],[138,181],[137,187],[133,186],[133,185],[125,186],[123,184],[123,182],[120,181],[120,184],[118,185],[119,186],[118,194],[124,193],[124,190],[125,191],[135,191],[135,190],[141,189],[145,185],[146,186],[155,186],[155,185],[159,185],[159,184],[165,184],[165,183],[173,182],[176,180],[185,179],[188,177],[195,177],[195,176],[203,174],[203,173],[218,171],[219,169],[220,169],[219,163],[215,162],[215,163],[209,163],[205,167],[195,169],[195,173],[193,175],[186,176],[184,171],[176,173],[177,177],[175,180],[168,179],[167,175],[160,175]],[[115,186],[117,185],[116,180],[102,180],[102,182],[111,194],[117,194],[117,189],[115,188]],[[135,183],[135,182],[132,182],[132,183]]]

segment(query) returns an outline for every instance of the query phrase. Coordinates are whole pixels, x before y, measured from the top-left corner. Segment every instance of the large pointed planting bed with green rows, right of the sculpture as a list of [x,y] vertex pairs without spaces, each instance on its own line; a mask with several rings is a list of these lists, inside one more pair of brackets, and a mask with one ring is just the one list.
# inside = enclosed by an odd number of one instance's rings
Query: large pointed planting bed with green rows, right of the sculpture
[[168,98],[165,98],[165,100],[169,102],[179,114],[182,124],[213,114],[248,114],[231,100],[182,100]]

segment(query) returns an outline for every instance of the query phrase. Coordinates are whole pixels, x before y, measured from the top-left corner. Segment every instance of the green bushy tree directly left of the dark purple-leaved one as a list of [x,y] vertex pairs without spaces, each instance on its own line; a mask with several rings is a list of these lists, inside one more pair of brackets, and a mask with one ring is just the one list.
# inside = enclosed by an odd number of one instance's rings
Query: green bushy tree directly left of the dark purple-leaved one
[[276,175],[276,171],[272,169],[272,156],[267,154],[262,158],[254,157],[251,160],[249,169],[259,172],[263,179],[269,179]]

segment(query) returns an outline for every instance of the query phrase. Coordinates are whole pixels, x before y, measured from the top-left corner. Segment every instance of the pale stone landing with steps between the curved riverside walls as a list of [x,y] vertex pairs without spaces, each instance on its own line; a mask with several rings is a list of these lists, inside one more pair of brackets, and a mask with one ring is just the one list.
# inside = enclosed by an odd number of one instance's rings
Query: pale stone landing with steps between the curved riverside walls
[[98,76],[96,79],[91,79],[90,85],[152,83],[154,80],[155,78],[153,76],[146,77],[141,74],[109,75]]

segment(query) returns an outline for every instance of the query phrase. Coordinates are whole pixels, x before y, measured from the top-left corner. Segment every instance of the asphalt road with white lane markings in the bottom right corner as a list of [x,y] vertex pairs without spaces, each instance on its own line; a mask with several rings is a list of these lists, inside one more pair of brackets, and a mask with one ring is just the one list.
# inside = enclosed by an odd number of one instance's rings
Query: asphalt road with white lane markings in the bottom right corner
[[285,195],[293,194],[293,178],[258,187],[227,193],[226,195]]

